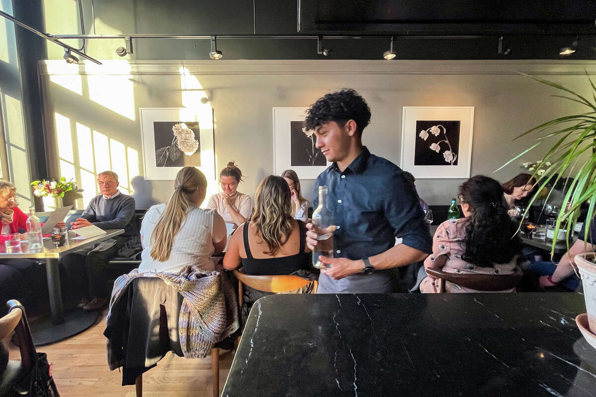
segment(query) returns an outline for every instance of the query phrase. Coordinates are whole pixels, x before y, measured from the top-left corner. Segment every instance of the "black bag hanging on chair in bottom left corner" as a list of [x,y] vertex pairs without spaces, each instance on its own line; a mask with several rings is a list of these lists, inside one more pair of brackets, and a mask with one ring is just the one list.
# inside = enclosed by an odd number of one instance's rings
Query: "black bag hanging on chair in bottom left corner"
[[51,365],[45,353],[38,352],[38,358],[33,368],[17,385],[14,386],[11,397],[60,397],[58,388],[51,373]]

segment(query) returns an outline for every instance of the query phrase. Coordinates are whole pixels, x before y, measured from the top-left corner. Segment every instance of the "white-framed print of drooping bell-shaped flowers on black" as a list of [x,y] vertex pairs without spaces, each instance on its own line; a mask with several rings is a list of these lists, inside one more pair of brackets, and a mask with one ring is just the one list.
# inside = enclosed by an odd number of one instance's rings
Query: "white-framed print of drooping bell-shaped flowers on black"
[[474,107],[403,107],[401,168],[417,179],[469,178]]

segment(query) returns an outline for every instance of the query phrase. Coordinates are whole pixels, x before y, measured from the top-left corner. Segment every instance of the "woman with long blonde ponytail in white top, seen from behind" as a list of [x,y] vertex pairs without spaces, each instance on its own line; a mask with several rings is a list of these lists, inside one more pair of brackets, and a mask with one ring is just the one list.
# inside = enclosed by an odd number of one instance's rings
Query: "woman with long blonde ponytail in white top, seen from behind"
[[227,233],[217,211],[198,207],[206,188],[207,179],[197,168],[178,171],[169,201],[149,208],[143,217],[139,272],[179,273],[188,265],[215,270],[210,258],[224,251]]

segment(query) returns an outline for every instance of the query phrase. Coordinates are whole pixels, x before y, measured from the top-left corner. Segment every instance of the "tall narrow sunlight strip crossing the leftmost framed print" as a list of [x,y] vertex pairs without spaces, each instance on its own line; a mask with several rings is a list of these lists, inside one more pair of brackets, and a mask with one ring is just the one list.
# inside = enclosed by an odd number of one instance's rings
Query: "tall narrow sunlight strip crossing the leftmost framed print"
[[213,146],[206,144],[207,141],[210,142],[210,139],[207,140],[206,137],[213,136],[213,109],[209,101],[205,104],[201,102],[202,98],[209,98],[209,96],[197,78],[192,76],[185,67],[180,67],[179,72],[181,74],[182,106],[193,112],[201,130],[201,170],[207,177],[207,195],[202,204],[204,206],[219,189],[219,183],[214,179],[216,175],[215,151]]

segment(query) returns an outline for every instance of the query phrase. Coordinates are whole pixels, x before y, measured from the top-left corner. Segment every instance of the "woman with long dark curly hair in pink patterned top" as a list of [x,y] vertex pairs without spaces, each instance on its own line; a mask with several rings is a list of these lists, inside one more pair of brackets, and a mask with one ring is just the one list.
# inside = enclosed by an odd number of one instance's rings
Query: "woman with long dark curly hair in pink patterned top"
[[[521,241],[517,224],[507,214],[503,188],[496,180],[473,176],[460,186],[458,198],[464,218],[439,225],[433,238],[433,253],[424,268],[446,273],[513,274]],[[479,292],[433,276],[420,283],[421,292]],[[502,291],[513,292],[514,289]]]

